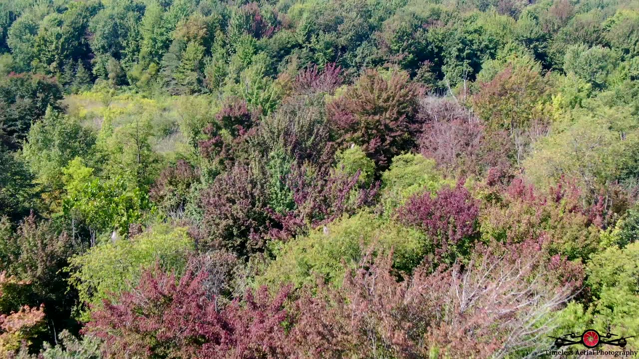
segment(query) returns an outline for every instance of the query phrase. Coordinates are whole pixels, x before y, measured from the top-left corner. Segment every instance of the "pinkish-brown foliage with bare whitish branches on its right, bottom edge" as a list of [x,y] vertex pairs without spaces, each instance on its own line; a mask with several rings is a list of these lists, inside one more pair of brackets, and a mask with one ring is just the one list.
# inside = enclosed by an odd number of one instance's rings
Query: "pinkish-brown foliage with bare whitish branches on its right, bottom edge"
[[321,287],[318,296],[296,303],[302,314],[292,332],[297,354],[493,358],[546,348],[539,340],[551,329],[546,314],[576,284],[546,277],[548,262],[537,246],[504,252],[484,248],[465,268],[433,273],[422,266],[403,282],[391,274],[390,257],[364,263],[341,289]]

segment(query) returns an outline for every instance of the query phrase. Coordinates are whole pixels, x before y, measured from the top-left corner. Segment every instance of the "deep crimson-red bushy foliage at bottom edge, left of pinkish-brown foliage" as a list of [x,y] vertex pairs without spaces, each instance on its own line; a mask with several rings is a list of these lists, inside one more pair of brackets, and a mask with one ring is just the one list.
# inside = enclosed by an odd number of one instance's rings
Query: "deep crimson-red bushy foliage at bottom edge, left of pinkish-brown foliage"
[[109,358],[288,357],[288,287],[275,298],[265,288],[249,292],[244,303],[217,310],[204,280],[204,271],[187,270],[179,281],[159,268],[146,271],[135,291],[93,312],[86,331],[105,340]]

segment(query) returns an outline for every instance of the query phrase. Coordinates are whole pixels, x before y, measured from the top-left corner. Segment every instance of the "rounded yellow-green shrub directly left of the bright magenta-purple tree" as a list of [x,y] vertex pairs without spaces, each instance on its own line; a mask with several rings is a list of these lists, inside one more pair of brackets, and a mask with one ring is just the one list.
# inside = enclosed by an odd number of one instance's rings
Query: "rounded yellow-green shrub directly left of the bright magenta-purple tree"
[[377,253],[392,249],[394,268],[410,271],[420,263],[426,248],[423,234],[363,212],[275,248],[276,259],[256,281],[293,282],[301,287],[315,284],[319,276],[327,283],[339,285],[346,266],[357,265],[369,249]]

